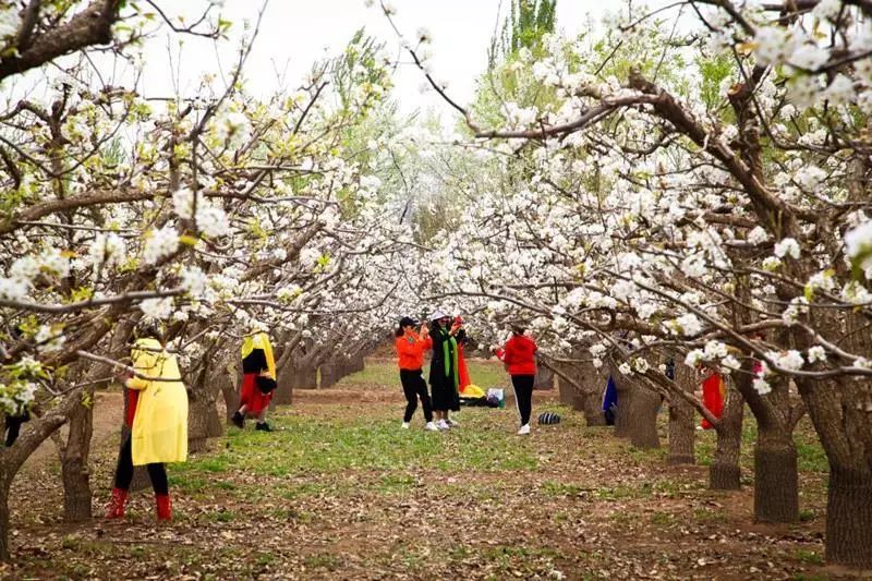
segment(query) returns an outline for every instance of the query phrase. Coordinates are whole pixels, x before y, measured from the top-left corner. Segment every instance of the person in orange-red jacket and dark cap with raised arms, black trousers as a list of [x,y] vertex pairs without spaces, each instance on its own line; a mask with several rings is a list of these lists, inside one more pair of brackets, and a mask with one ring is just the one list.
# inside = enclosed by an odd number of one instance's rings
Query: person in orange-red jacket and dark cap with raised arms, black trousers
[[424,429],[436,432],[436,424],[433,423],[433,407],[427,394],[427,384],[424,382],[422,368],[424,367],[424,351],[433,347],[433,339],[429,338],[427,326],[422,325],[421,335],[415,328],[417,323],[411,317],[402,317],[400,326],[397,328],[396,347],[397,363],[400,367],[400,383],[405,395],[405,414],[402,417],[402,428],[409,429],[409,423],[417,409],[417,399],[421,398],[421,406],[424,408],[424,420],[427,422]]

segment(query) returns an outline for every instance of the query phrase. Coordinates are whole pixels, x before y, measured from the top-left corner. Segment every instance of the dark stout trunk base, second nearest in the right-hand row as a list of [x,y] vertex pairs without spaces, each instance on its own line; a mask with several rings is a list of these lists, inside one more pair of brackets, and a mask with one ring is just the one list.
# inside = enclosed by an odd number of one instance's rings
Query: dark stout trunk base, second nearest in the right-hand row
[[754,446],[754,519],[758,522],[797,522],[799,482],[797,448],[789,434],[761,429]]

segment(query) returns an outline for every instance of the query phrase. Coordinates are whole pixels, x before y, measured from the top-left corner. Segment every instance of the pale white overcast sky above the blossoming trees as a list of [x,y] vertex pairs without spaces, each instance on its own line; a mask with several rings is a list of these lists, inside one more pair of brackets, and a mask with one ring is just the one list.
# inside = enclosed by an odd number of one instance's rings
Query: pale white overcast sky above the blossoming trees
[[[186,0],[192,5],[199,1]],[[487,64],[487,47],[498,23],[508,10],[510,0],[393,0],[397,8],[395,23],[409,39],[416,37],[420,27],[433,36],[429,47],[434,75],[448,82],[452,98],[460,102],[472,100],[475,78]],[[169,4],[167,2],[166,4]],[[164,4],[164,5],[166,5]],[[221,15],[232,21],[234,39],[244,29],[244,21],[252,23],[262,0],[226,0]],[[501,13],[500,13],[501,8]],[[622,0],[558,0],[557,27],[576,34],[598,21],[607,11],[627,10]],[[284,86],[294,89],[318,59],[337,55],[360,27],[383,39],[391,56],[397,55],[399,37],[378,9],[366,8],[364,0],[270,0],[245,66],[249,88],[255,94],[266,94],[281,86],[277,71],[286,71]],[[172,83],[168,71],[173,70],[168,56],[168,45],[175,39],[158,36],[148,45],[143,92],[148,96],[169,96]],[[191,94],[206,72],[227,71],[233,60],[234,41],[223,43],[216,52],[211,40],[185,38],[179,71],[183,93]],[[178,52],[173,50],[173,52]],[[424,81],[421,72],[402,59],[395,74],[395,96],[401,109],[436,108],[448,112],[446,105],[432,92],[422,94]],[[223,66],[219,68],[218,62]],[[402,62],[402,61],[401,61]],[[158,95],[165,93],[165,95]]]

